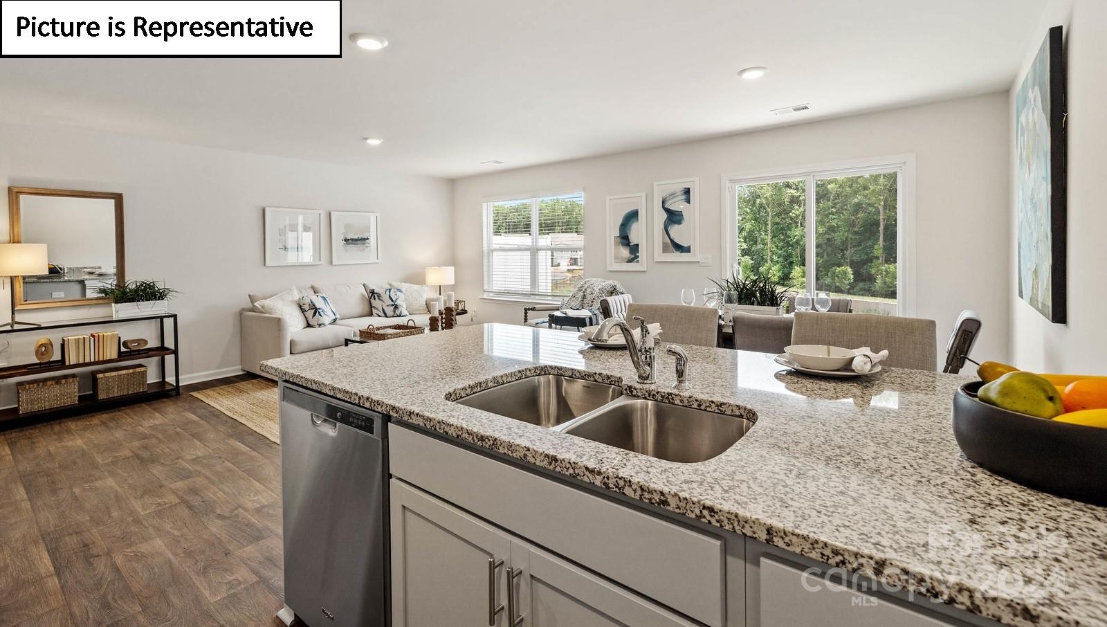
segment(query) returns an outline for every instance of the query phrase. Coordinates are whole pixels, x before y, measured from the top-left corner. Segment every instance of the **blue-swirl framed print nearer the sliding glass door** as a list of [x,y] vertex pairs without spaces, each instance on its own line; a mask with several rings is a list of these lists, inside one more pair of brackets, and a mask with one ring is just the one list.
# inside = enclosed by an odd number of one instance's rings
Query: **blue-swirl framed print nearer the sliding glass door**
[[700,263],[700,179],[653,184],[654,261]]

